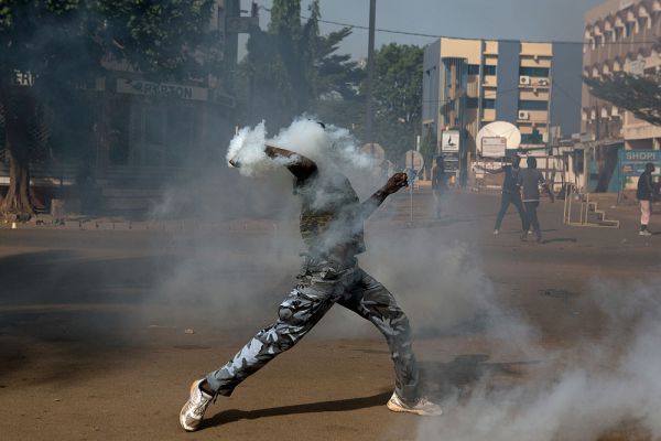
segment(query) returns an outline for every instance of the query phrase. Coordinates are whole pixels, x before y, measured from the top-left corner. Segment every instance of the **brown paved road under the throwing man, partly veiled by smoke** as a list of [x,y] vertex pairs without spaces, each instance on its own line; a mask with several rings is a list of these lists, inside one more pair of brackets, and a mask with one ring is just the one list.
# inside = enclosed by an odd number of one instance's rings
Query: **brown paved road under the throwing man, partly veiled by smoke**
[[[621,209],[617,230],[571,228],[561,204],[544,203],[540,245],[519,240],[513,213],[491,235],[496,196],[451,194],[435,220],[420,194],[411,224],[407,197],[369,222],[360,263],[411,318],[425,390],[447,409],[433,429],[386,409],[386,344],[337,306],[219,399],[204,430],[181,432],[189,381],[268,324],[293,281],[301,243],[295,220],[280,218],[0,229],[0,438],[426,440],[449,430],[470,439],[460,426],[474,390],[562,377],[567,358],[589,357],[578,342],[613,335],[609,299],[659,280],[661,236],[637,235],[635,208]],[[631,319],[622,316],[619,326]],[[627,430],[602,439],[638,432]]]

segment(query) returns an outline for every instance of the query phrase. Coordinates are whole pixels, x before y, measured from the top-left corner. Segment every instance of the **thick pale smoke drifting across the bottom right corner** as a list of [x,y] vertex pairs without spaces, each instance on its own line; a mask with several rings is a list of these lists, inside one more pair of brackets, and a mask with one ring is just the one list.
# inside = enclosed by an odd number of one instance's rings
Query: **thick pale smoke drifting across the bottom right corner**
[[[607,316],[597,341],[570,351],[537,351],[560,375],[532,375],[524,384],[494,389],[483,378],[467,400],[446,397],[447,418],[423,421],[419,440],[596,440],[633,422],[652,439],[661,435],[661,308],[646,286],[593,283],[590,297]],[[626,295],[622,295],[626,293]],[[572,354],[578,354],[577,359]],[[647,439],[647,438],[646,438]]]

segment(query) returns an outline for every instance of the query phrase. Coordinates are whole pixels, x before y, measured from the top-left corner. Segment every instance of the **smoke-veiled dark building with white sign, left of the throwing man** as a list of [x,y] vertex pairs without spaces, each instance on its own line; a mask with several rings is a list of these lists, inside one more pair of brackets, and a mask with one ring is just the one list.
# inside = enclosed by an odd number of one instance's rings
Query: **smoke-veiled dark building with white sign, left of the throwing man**
[[[221,160],[218,144],[231,139],[237,118],[236,90],[226,83],[227,74],[236,71],[238,34],[256,25],[254,6],[251,15],[241,17],[240,0],[216,0],[208,39],[199,51],[201,61],[213,57],[214,67],[198,78],[156,82],[126,61],[104,57],[104,74],[80,89],[79,97],[72,97],[78,98],[71,106],[75,123],[59,121],[57,115],[44,122],[53,126],[45,130],[51,135],[66,126],[66,137],[51,136],[42,150],[75,153],[45,155],[32,163],[33,189],[68,197],[83,183],[93,184],[104,208],[138,209],[149,202],[147,197],[139,201],[126,194],[159,189],[182,169]],[[17,73],[17,87],[32,87],[33,82]],[[0,120],[0,133],[1,126]],[[0,143],[0,196],[9,183],[2,151]],[[150,198],[158,195],[142,193]],[[37,205],[47,206],[48,197],[37,197]]]

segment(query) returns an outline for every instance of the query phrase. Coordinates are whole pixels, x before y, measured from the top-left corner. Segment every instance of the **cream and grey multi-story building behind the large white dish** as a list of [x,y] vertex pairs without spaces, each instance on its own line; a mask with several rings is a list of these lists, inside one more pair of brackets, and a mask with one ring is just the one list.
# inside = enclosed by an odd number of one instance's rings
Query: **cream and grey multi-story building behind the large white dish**
[[458,131],[459,151],[444,155],[460,172],[486,123],[516,125],[530,150],[578,132],[579,96],[579,44],[443,37],[424,49],[423,133],[442,151],[443,132]]

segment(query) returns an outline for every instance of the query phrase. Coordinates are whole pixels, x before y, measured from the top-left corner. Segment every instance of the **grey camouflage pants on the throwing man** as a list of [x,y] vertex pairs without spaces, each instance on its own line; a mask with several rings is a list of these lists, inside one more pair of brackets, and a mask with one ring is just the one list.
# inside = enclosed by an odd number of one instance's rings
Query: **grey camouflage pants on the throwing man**
[[395,390],[404,401],[414,401],[419,376],[409,320],[392,294],[355,262],[347,266],[307,258],[297,279],[280,304],[278,321],[257,333],[229,363],[209,373],[209,387],[230,396],[243,379],[293,347],[339,303],[381,331],[394,362]]

